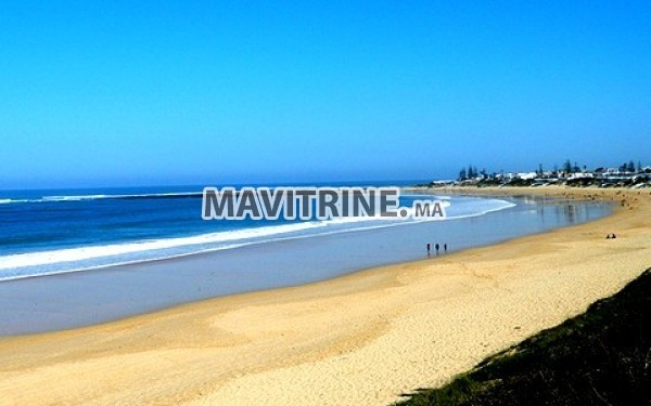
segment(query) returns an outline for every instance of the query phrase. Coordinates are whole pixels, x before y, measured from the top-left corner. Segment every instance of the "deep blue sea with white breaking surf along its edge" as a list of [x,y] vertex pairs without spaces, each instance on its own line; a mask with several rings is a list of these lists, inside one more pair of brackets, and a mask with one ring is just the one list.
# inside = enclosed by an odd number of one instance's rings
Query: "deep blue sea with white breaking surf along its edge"
[[[373,183],[375,186],[403,183]],[[328,184],[330,186],[341,186]],[[367,183],[368,185],[368,183]],[[204,221],[202,186],[0,192],[0,280],[87,271],[416,220]],[[400,196],[411,206],[420,195]],[[514,206],[451,197],[450,220]]]

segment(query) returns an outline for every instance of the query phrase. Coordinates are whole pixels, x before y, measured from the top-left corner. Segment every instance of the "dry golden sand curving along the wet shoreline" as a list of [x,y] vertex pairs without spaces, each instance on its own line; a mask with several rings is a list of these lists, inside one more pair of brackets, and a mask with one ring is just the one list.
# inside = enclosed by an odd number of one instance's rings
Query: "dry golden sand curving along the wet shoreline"
[[481,192],[597,196],[618,209],[435,260],[0,339],[0,404],[383,405],[585,311],[651,266],[649,189]]

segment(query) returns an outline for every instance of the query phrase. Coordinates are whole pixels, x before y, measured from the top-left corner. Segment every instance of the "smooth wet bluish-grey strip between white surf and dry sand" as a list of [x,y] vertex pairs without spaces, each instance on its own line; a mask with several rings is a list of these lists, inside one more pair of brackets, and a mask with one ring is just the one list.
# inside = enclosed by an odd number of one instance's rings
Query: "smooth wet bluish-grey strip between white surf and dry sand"
[[[475,197],[452,199],[464,205]],[[536,198],[535,205],[529,205],[529,198],[503,200],[508,200],[505,206],[515,206],[450,221],[322,233],[183,258],[0,283],[0,336],[72,329],[206,299],[308,285],[360,270],[424,259],[426,241],[447,244],[454,252],[590,221],[612,211],[612,205],[589,201],[573,205]]]

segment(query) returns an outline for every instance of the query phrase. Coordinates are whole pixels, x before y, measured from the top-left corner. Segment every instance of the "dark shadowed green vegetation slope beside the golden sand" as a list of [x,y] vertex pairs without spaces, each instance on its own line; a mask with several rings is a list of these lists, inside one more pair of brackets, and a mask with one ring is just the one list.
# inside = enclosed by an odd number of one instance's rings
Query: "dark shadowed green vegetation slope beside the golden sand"
[[398,405],[651,405],[651,269],[579,316]]

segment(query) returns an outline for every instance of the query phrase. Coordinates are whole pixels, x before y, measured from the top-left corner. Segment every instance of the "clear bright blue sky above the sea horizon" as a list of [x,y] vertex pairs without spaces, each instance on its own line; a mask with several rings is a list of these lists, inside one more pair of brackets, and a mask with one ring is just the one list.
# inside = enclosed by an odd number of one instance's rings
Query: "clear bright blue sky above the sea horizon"
[[5,0],[0,52],[0,188],[651,165],[649,1]]

